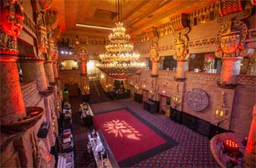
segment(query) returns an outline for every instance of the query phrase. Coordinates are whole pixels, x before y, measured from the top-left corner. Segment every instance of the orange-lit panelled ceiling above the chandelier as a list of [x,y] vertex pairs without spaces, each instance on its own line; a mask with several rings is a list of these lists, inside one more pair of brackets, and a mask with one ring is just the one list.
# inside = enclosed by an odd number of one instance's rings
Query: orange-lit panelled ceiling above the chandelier
[[[122,22],[130,35],[170,21],[181,12],[213,4],[217,0],[121,0]],[[53,0],[50,9],[59,11],[59,24],[67,33],[108,36],[110,31],[78,28],[76,23],[113,27],[116,23],[116,0]]]

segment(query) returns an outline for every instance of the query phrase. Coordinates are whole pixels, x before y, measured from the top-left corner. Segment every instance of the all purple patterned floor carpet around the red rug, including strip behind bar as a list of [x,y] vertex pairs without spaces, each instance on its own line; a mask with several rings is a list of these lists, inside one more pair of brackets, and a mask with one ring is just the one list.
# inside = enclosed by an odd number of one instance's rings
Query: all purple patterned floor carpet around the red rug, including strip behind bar
[[[70,99],[72,103],[72,130],[75,137],[75,167],[94,167],[92,156],[87,152],[87,132],[82,121],[78,118],[78,98]],[[157,127],[167,136],[178,142],[178,145],[162,153],[141,161],[133,167],[219,167],[211,155],[210,141],[207,137],[193,132],[184,125],[171,121],[167,116],[151,114],[143,110],[142,105],[130,99],[114,100],[91,105],[94,113],[110,111],[117,108],[130,108],[143,119]]]

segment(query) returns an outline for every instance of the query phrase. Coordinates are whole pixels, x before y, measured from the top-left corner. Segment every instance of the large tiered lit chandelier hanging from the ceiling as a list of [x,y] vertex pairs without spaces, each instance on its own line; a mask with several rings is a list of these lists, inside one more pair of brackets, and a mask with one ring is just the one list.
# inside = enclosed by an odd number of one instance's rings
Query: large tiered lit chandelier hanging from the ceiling
[[99,55],[102,63],[96,65],[101,71],[114,79],[127,79],[138,71],[144,64],[139,62],[140,55],[133,51],[130,37],[125,33],[121,18],[121,3],[118,0],[118,23],[113,28],[108,39],[110,44],[105,46],[107,52]]

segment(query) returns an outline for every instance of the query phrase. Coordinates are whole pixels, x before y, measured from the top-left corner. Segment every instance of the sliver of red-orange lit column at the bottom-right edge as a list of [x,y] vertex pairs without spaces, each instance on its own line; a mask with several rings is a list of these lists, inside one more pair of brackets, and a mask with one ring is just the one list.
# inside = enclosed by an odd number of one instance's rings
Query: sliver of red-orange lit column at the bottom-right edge
[[252,111],[252,124],[249,131],[248,141],[245,151],[245,164],[246,167],[256,167],[256,105],[253,107]]

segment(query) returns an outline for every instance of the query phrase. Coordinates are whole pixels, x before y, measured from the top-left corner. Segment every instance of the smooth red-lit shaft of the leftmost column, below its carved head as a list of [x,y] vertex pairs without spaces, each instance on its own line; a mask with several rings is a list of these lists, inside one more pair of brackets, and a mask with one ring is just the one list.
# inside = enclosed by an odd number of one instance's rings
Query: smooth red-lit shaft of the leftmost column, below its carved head
[[0,57],[1,124],[20,121],[26,116],[17,59],[18,57]]

